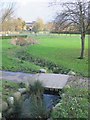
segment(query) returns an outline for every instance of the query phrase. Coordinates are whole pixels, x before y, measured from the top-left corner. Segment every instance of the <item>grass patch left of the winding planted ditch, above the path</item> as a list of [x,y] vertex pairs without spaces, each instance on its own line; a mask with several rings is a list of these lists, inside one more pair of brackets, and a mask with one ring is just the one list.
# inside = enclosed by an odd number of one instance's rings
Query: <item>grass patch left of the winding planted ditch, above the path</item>
[[2,39],[2,62],[1,69],[9,71],[39,71],[40,67],[27,61],[21,61],[15,57],[15,53],[21,49],[20,46],[10,44],[11,39]]

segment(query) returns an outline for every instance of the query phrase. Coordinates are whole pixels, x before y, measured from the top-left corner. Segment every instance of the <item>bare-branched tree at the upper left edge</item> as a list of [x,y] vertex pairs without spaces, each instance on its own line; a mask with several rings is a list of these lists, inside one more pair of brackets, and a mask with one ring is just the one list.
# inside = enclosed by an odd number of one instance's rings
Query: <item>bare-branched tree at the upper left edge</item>
[[[16,3],[14,2],[0,2],[0,26],[1,31],[3,30],[3,26],[8,26],[10,21],[12,20],[15,13]],[[10,27],[10,26],[9,26]]]

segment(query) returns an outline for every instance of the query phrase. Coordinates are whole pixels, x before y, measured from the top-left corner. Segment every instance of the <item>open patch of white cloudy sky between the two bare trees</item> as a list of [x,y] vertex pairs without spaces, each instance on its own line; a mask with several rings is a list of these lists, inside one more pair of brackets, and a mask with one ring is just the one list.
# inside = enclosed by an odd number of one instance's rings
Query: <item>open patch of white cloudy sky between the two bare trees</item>
[[21,2],[18,3],[17,15],[25,21],[33,21],[38,18],[45,22],[51,21],[55,15],[54,7],[49,7],[48,2]]

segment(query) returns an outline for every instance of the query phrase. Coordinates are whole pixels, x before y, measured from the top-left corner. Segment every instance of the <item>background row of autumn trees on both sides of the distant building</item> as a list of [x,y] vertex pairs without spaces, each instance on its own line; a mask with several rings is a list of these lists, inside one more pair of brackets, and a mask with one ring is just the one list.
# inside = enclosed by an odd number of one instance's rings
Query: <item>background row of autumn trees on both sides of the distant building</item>
[[[69,3],[70,4],[70,3]],[[0,28],[2,31],[22,31],[28,27],[25,25],[25,21],[21,18],[15,18],[15,3],[0,3]],[[68,24],[67,19],[65,18],[66,14],[58,14],[55,18],[55,21],[46,23],[43,19],[37,19],[33,24],[32,31],[49,31],[49,32],[78,32],[77,27],[74,24]],[[62,22],[63,19],[64,22]],[[62,24],[62,25],[61,25]],[[67,25],[67,27],[66,27]],[[61,27],[62,26],[62,27]]]

